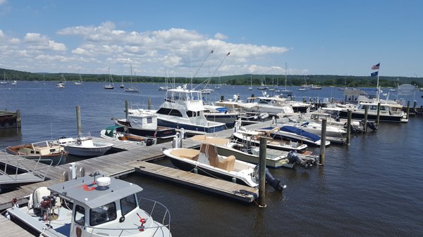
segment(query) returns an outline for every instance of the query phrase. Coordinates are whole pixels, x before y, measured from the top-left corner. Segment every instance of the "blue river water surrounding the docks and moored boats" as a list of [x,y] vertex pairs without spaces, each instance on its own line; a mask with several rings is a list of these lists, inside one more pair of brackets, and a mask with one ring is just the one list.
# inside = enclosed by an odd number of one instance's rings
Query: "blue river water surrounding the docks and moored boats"
[[[20,143],[76,135],[75,106],[80,105],[82,132],[99,136],[124,117],[125,101],[153,105],[163,100],[161,84],[142,84],[142,92],[105,90],[102,83],[55,84],[19,82],[0,87],[0,109],[21,110],[21,134],[0,130],[0,148]],[[334,97],[343,91],[324,88],[294,91],[297,98]],[[261,92],[223,86],[208,95],[247,98]],[[422,105],[421,92],[407,101]],[[392,98],[392,97],[391,97]],[[421,236],[423,233],[422,118],[407,124],[380,124],[377,132],[355,134],[349,147],[326,148],[324,167],[271,169],[287,185],[283,193],[266,190],[266,208],[245,205],[166,181],[136,174],[126,178],[145,188],[145,196],[164,203],[171,212],[173,236]],[[314,149],[314,153],[319,153]],[[161,160],[162,165],[170,165]]]

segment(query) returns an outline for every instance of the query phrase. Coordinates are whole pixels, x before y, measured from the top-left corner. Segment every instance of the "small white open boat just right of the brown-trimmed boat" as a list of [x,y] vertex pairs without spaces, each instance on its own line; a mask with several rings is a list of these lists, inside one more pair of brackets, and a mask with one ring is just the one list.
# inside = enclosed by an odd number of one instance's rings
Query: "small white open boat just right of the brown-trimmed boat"
[[60,138],[57,140],[69,155],[96,157],[104,155],[114,144],[92,141],[91,134],[79,134],[74,138]]

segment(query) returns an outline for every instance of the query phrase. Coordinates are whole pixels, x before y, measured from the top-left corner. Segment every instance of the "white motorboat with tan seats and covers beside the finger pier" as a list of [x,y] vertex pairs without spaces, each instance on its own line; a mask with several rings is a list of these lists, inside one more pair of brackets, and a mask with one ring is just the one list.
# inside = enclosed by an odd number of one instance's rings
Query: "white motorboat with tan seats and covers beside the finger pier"
[[[192,148],[169,148],[163,154],[170,158],[178,169],[196,171],[198,174],[236,182],[250,187],[259,186],[259,166],[235,158],[235,155],[219,155],[213,144],[202,143],[200,150]],[[277,191],[286,188],[266,171],[266,181]]]

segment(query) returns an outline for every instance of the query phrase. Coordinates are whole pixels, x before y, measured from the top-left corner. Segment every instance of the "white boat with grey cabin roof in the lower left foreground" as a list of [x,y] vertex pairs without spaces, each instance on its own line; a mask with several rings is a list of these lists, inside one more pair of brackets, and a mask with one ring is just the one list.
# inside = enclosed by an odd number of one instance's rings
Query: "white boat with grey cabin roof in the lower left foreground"
[[7,217],[39,236],[171,237],[170,212],[142,198],[141,191],[136,184],[96,172],[37,188],[27,205],[7,209]]

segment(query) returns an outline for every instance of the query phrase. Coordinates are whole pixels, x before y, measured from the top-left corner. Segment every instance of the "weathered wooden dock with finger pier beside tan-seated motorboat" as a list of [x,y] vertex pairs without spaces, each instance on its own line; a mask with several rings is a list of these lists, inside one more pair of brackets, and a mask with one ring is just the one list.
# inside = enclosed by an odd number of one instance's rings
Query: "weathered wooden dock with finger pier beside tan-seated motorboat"
[[[216,135],[228,137],[231,136],[231,134],[232,130],[229,129],[221,131]],[[102,138],[94,138],[94,140],[104,141]],[[114,143],[114,147],[112,149],[114,149],[116,153],[78,161],[77,169],[83,167],[86,175],[99,171],[110,177],[121,177],[126,174],[139,173],[156,179],[176,182],[177,184],[183,186],[198,188],[202,191],[215,193],[226,198],[240,200],[247,203],[252,203],[258,198],[257,188],[251,188],[249,186],[235,184],[220,179],[204,177],[200,174],[185,172],[180,169],[164,167],[148,162],[149,160],[163,158],[164,155],[162,150],[171,148],[171,142],[160,143],[154,146],[140,146],[123,141],[109,142]],[[200,143],[197,141],[191,141],[190,139],[183,140],[183,147],[185,148],[195,148],[199,145]],[[20,186],[20,188],[16,191],[0,194],[0,210],[5,210],[11,207],[11,200],[13,200],[13,198],[18,199],[18,204],[27,203],[27,196],[36,188],[40,186],[50,186],[63,181],[63,174],[70,171],[69,167],[69,164],[65,164],[56,167],[44,165],[44,167],[38,168],[39,171],[49,169],[49,172],[46,175],[46,181],[26,184]],[[78,175],[78,177],[79,176],[80,175]]]

